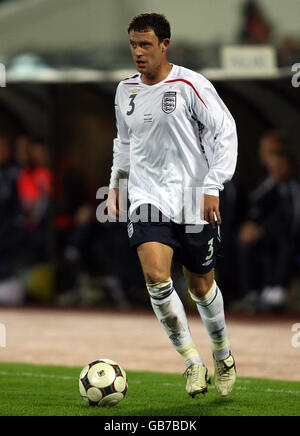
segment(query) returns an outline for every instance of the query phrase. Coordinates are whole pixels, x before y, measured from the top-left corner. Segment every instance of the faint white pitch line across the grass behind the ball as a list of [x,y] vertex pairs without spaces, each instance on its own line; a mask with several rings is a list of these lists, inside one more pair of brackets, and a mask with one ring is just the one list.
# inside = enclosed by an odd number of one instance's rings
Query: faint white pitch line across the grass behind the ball
[[[0,376],[11,376],[11,377],[31,377],[31,378],[52,378],[52,379],[56,379],[56,380],[78,380],[77,377],[70,377],[70,376],[64,376],[64,375],[54,375],[54,374],[33,374],[30,372],[23,372],[23,373],[12,373],[12,372],[8,372],[8,371],[0,371]],[[132,381],[131,384],[137,385],[137,384],[143,384],[144,382],[142,381]],[[239,382],[238,382],[239,383]],[[251,381],[250,380],[241,380],[240,383],[246,383],[246,384],[250,384]],[[171,386],[171,387],[180,387],[182,386],[179,383],[155,383],[156,385],[160,385],[160,386]],[[208,386],[209,389],[215,389],[214,386]],[[236,390],[238,391],[253,391],[251,388],[247,388],[245,386],[236,386],[235,387]],[[266,394],[268,393],[276,393],[276,394],[295,394],[295,395],[300,395],[300,391],[292,391],[292,390],[282,390],[282,389],[255,389],[254,391],[256,392],[264,392]]]

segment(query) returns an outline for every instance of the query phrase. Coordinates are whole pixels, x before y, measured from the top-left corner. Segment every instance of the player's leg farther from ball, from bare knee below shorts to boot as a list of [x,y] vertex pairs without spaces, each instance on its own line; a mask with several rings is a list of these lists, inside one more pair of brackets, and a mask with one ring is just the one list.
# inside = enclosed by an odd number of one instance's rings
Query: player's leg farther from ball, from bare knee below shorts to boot
[[214,269],[200,274],[184,267],[192,299],[210,336],[215,366],[215,386],[222,396],[228,395],[235,383],[236,370],[227,329],[222,293],[215,282]]

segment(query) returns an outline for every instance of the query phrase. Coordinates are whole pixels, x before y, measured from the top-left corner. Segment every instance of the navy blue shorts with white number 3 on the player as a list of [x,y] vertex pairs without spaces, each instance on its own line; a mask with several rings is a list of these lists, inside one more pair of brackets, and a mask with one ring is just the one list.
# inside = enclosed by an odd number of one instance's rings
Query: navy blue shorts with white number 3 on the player
[[[141,207],[147,207],[151,216],[150,208],[153,211],[154,206],[142,205]],[[219,226],[216,229],[211,224],[187,227],[186,224],[167,220],[158,209],[156,211],[157,222],[151,222],[150,219],[147,222],[128,221],[127,230],[131,248],[136,250],[144,242],[160,242],[172,247],[180,263],[190,272],[207,274],[215,268],[216,255],[221,246]],[[136,214],[140,214],[140,208],[136,210]],[[191,228],[195,232],[191,233]]]

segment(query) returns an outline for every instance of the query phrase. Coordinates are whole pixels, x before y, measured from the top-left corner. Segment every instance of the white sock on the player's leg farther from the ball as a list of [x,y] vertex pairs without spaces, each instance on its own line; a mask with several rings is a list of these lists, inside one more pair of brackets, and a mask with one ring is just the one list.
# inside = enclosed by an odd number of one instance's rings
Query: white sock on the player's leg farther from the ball
[[197,298],[191,292],[190,295],[196,302],[198,312],[211,339],[215,359],[226,359],[230,355],[230,345],[227,339],[224,303],[220,289],[214,282],[203,298]]

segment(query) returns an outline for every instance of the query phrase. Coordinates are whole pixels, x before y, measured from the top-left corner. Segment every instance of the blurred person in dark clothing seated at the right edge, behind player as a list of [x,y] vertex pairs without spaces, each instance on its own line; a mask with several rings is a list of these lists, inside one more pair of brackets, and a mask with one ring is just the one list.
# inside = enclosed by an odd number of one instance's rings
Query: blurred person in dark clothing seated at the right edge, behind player
[[236,309],[285,305],[299,228],[300,183],[295,159],[277,131],[260,143],[267,177],[250,195],[247,220],[239,234],[240,283]]

